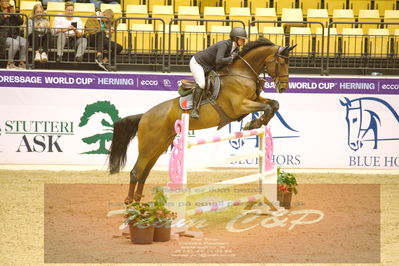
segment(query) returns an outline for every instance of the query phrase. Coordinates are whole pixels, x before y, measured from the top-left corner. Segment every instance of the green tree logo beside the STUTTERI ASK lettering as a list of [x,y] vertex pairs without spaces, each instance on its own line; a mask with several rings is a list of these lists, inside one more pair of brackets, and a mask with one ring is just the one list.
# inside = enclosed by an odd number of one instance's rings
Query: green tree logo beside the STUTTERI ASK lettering
[[103,131],[99,132],[90,137],[83,138],[82,141],[86,144],[95,144],[97,143],[98,148],[96,150],[83,152],[83,154],[108,154],[109,151],[105,147],[107,141],[112,140],[112,128],[114,122],[121,119],[119,117],[119,111],[115,108],[115,105],[111,104],[108,101],[99,101],[89,105],[86,105],[85,111],[80,118],[79,127],[87,126],[89,121],[93,119],[93,117],[97,114],[105,114],[109,120],[103,118],[101,120],[101,125],[98,127],[105,127]]

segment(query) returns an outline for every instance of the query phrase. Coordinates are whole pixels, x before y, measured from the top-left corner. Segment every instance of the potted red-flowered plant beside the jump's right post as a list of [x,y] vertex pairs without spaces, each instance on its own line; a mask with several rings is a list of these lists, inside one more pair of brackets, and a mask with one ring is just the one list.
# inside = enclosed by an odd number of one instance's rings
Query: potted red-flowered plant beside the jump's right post
[[297,185],[293,174],[282,171],[280,167],[277,168],[277,200],[281,207],[291,208],[292,193],[298,193]]

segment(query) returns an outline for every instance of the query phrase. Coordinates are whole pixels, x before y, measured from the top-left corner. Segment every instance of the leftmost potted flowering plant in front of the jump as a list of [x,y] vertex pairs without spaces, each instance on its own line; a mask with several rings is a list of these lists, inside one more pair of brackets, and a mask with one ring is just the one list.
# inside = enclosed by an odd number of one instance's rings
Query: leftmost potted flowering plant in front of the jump
[[124,211],[125,225],[129,225],[130,240],[134,244],[151,244],[154,238],[156,212],[150,203],[132,202]]

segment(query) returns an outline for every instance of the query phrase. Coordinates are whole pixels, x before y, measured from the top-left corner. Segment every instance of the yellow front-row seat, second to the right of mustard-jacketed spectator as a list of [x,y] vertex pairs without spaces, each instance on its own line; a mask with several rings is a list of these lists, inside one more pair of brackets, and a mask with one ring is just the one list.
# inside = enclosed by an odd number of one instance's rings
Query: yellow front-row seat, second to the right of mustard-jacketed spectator
[[154,48],[152,24],[133,24],[131,29],[133,53],[150,53]]

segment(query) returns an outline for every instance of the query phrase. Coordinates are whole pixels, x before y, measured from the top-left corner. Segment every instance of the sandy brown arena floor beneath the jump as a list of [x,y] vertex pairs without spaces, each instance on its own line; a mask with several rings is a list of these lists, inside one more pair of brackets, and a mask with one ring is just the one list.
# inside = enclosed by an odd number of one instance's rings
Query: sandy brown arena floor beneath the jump
[[[202,184],[248,174],[244,172],[195,172],[189,178]],[[281,217],[283,222],[264,221],[263,217],[236,219],[242,209],[237,206],[199,217],[208,225],[196,229],[203,238],[133,245],[118,230],[122,217],[106,217],[108,211],[123,208],[128,173],[2,169],[1,264],[397,265],[398,173],[298,171],[296,175],[299,193],[291,213]],[[153,171],[148,189],[165,184],[166,177],[165,171]],[[304,210],[313,210],[313,214],[304,217],[300,214]],[[295,223],[316,220],[315,210],[324,215],[320,221]]]

